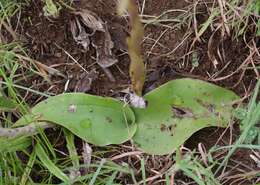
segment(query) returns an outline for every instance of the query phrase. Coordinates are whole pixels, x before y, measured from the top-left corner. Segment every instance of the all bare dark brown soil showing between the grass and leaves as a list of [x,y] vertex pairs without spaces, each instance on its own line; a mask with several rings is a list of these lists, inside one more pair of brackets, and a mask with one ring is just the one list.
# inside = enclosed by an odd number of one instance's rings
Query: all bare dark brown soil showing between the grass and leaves
[[[139,2],[139,5],[142,5],[142,1]],[[146,1],[143,14],[159,16],[167,10],[189,10],[189,5],[188,1],[182,0]],[[128,35],[129,24],[127,19],[119,18],[116,15],[116,1],[78,0],[73,4],[75,9],[89,9],[100,16],[103,21],[107,22],[112,41],[115,44],[113,52],[119,61],[109,68],[116,82],[111,82],[102,68],[96,64],[96,55],[93,48],[85,52],[83,48],[74,41],[70,31],[70,20],[75,16],[72,14],[72,10],[64,8],[60,12],[59,17],[47,18],[43,15],[42,7],[43,3],[40,0],[32,1],[29,6],[24,7],[21,13],[18,33],[21,35],[24,46],[31,58],[59,70],[67,78],[52,75],[50,76],[51,82],[47,83],[43,78],[35,76],[29,80],[25,79],[25,82],[22,83],[33,86],[35,90],[40,92],[59,94],[64,92],[69,80],[66,91],[73,92],[75,91],[77,82],[80,80],[80,76],[82,76],[82,73],[85,73],[81,67],[73,61],[74,59],[87,71],[96,70],[98,73],[97,78],[93,80],[91,88],[87,93],[100,96],[122,96],[121,92],[127,89],[130,84],[128,75],[129,57],[124,52],[126,51],[125,37]],[[207,18],[207,8],[202,6],[200,11],[202,13],[196,15],[197,20],[203,22]],[[178,15],[180,15],[180,12],[169,13],[167,16],[174,18]],[[228,89],[233,89],[238,95],[244,97],[254,87],[253,84],[255,84],[256,75],[253,70],[246,70],[245,73],[240,70],[231,77],[223,80],[214,81],[214,79],[231,74],[245,61],[250,52],[245,41],[243,41],[242,38],[232,39],[231,36],[228,35],[221,37],[220,31],[217,31],[214,37],[211,38],[214,31],[208,29],[200,40],[195,42],[193,47],[191,47],[195,34],[193,27],[190,26],[188,21],[189,19],[187,19],[186,23],[180,24],[178,29],[171,29],[156,24],[145,25],[143,54],[147,65],[147,81],[144,92],[151,91],[172,79],[192,77],[207,80]],[[169,22],[166,25],[172,26],[173,23]],[[185,39],[189,33],[190,36]],[[248,35],[247,40],[249,42],[252,38],[250,38],[250,33],[248,33]],[[211,44],[209,44],[210,39],[212,39]],[[155,44],[156,40],[157,44]],[[217,55],[216,45],[220,48],[221,59]],[[173,51],[177,46],[178,48]],[[216,68],[213,65],[212,58],[208,55],[208,50],[213,50],[212,53],[219,62]],[[68,56],[68,53],[70,56]],[[198,62],[197,67],[194,67],[193,63],[194,53],[196,54],[195,60]],[[211,76],[219,71],[222,71],[221,74],[211,78]],[[83,81],[82,83],[85,82]],[[32,106],[41,100],[42,98],[36,95],[29,94],[26,96],[26,101],[30,102]],[[212,134],[209,135],[209,132]],[[193,149],[198,146],[198,143],[203,143],[203,145],[209,149],[210,146],[213,146],[217,142],[222,133],[223,129],[204,129],[192,136],[192,138],[186,142],[185,146]],[[233,130],[233,140],[238,133],[238,129]],[[221,137],[223,137],[221,140],[222,144],[228,143],[231,137],[230,132],[227,131],[227,133]],[[61,147],[64,146],[64,143],[62,143],[61,141]],[[126,143],[125,145],[130,144]],[[120,150],[120,153],[131,151],[126,148]],[[81,151],[80,144],[79,151]],[[241,155],[241,151],[239,151],[239,153],[236,155]],[[113,155],[116,155],[116,153],[113,153]],[[242,155],[247,157],[241,159],[241,163],[248,164],[247,159],[249,159],[249,154],[244,152]],[[151,169],[160,171],[169,164],[170,161],[169,156],[155,158],[153,156],[146,156],[146,159],[148,161],[147,168],[150,167],[150,169],[147,169],[148,176],[154,175]],[[129,158],[128,160],[130,160],[130,162],[132,161],[131,165],[138,169],[138,165],[136,166],[134,164],[134,161],[137,160],[135,157],[132,159]],[[157,162],[155,163],[154,161]],[[249,165],[252,166],[252,164]],[[178,179],[180,181],[189,181],[189,179],[181,174],[175,178],[177,178],[177,181]],[[163,184],[162,182],[160,183],[159,180],[160,178],[151,181],[150,184]]]

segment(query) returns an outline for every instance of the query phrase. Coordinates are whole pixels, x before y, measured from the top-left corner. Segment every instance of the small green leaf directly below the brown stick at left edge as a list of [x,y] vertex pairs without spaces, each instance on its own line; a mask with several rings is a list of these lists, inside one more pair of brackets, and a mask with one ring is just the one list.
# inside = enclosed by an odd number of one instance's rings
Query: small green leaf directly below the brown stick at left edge
[[27,136],[6,138],[0,137],[0,153],[22,151],[32,144],[32,139]]

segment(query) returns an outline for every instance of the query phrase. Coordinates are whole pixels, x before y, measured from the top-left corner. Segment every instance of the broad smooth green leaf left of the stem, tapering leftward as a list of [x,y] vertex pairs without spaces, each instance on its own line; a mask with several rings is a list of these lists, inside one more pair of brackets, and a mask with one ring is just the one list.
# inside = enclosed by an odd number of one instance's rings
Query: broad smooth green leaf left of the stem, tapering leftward
[[[36,121],[59,124],[83,140],[104,146],[132,138],[136,131],[133,111],[112,98],[67,93],[48,98],[31,110]],[[31,122],[23,117],[16,125]]]

